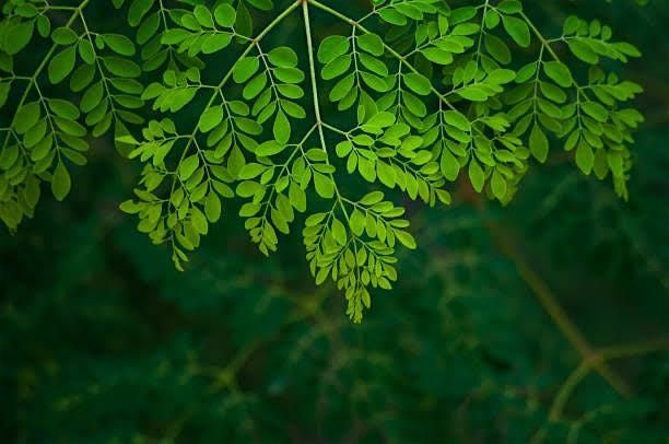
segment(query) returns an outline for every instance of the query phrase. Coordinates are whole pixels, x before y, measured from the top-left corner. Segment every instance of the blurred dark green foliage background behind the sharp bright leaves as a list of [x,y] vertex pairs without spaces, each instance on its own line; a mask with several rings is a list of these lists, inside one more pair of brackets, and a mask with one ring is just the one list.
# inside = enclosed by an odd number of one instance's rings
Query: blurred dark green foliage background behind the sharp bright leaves
[[2,441],[669,443],[669,4],[526,3],[643,49],[629,203],[558,157],[505,208],[406,202],[421,247],[357,326],[298,235],[265,259],[234,205],[175,271],[99,142],[67,202],[0,235]]

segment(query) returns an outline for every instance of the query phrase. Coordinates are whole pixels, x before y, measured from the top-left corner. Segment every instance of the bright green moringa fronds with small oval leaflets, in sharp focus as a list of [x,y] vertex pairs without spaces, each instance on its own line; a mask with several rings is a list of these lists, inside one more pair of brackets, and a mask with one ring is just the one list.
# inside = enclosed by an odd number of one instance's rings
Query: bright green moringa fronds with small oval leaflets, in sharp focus
[[[570,16],[549,35],[517,0],[278,3],[5,2],[9,230],[33,217],[42,183],[64,199],[91,139],[108,137],[142,165],[121,210],[178,269],[240,199],[260,252],[301,230],[316,282],[334,281],[361,322],[372,290],[398,278],[397,248],[416,248],[404,198],[448,206],[469,183],[507,203],[560,153],[627,198],[643,117],[626,103],[642,89],[618,65],[639,51],[599,21]],[[101,16],[111,5],[122,27]]]

